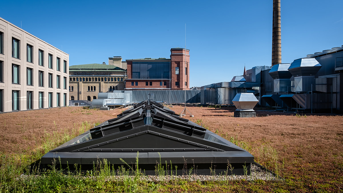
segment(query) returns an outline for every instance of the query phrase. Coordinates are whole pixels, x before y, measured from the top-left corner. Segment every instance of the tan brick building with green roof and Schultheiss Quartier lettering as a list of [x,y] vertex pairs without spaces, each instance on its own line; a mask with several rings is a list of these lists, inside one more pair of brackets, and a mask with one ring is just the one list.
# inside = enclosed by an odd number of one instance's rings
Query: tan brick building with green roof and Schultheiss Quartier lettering
[[124,90],[126,72],[105,63],[70,66],[69,100],[93,101],[99,92]]

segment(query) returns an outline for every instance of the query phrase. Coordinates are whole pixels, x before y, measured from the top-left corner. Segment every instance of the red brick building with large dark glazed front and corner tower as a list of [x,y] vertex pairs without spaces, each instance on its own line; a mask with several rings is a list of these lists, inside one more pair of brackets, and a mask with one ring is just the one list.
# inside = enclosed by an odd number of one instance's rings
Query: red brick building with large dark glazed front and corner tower
[[189,50],[171,48],[170,59],[126,60],[125,90],[189,90]]

